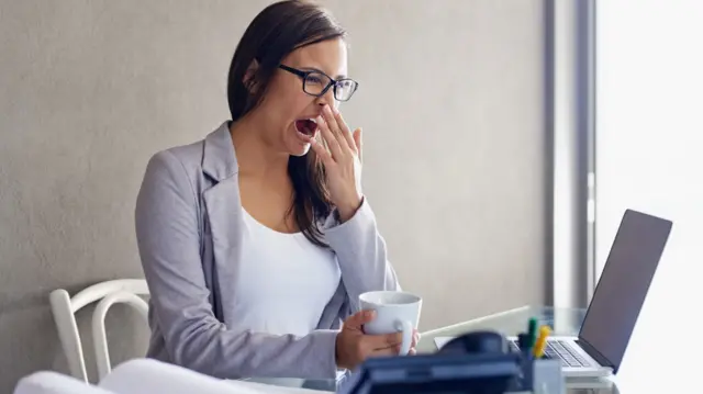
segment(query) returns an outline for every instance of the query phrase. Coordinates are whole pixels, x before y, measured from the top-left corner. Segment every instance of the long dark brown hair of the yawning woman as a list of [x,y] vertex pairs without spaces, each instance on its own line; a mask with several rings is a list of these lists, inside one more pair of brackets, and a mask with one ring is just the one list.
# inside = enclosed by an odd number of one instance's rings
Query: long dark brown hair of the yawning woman
[[[230,65],[227,100],[232,121],[254,110],[266,95],[268,85],[283,57],[297,48],[326,40],[345,38],[345,30],[323,8],[308,1],[279,1],[265,8],[244,32]],[[245,76],[256,60],[253,76]],[[256,89],[252,89],[255,87]],[[291,156],[288,173],[293,202],[288,214],[313,244],[326,247],[320,219],[332,212],[325,170],[314,151]]]

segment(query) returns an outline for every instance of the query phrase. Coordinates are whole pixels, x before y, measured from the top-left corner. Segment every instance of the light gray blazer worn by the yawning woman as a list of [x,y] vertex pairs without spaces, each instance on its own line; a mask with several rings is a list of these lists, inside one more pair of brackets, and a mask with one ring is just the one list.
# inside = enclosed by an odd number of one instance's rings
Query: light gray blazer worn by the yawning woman
[[147,357],[217,378],[334,378],[342,320],[359,294],[399,290],[365,202],[349,221],[322,226],[342,272],[317,329],[304,337],[232,329],[242,250],[237,160],[228,122],[204,140],[154,155],[136,201],[136,237],[150,291]]

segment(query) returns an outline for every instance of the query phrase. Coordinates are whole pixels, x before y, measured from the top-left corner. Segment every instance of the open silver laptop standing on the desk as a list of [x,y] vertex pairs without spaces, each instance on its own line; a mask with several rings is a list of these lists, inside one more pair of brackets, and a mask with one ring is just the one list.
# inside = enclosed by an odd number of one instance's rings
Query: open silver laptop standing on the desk
[[[559,359],[565,376],[617,373],[671,227],[670,221],[625,211],[579,335],[547,339],[545,358]],[[517,338],[507,339],[517,351]]]

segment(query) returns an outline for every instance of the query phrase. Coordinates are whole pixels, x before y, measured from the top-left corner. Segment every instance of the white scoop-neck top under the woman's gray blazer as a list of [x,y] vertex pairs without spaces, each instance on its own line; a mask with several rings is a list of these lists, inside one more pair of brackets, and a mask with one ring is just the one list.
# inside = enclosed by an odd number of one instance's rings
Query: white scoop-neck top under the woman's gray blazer
[[302,233],[264,226],[242,210],[244,239],[234,314],[238,329],[305,336],[339,285],[337,259]]

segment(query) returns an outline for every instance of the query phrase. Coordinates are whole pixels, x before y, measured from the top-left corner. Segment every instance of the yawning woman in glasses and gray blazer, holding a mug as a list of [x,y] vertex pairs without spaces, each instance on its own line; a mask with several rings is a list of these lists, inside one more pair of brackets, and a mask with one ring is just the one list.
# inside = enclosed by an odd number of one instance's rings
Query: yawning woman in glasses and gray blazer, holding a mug
[[400,286],[361,193],[361,131],[337,111],[357,88],[346,71],[328,13],[271,4],[234,54],[232,121],[149,160],[136,204],[149,357],[323,379],[398,352],[400,335],[364,335],[371,314],[353,314],[359,294]]

